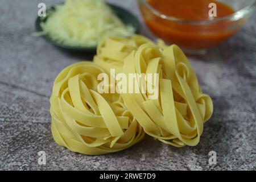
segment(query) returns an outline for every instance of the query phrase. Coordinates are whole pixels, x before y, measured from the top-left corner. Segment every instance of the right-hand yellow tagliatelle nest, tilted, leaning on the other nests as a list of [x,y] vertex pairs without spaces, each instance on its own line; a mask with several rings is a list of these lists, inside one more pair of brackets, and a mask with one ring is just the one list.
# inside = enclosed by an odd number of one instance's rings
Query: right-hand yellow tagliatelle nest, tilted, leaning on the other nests
[[[179,47],[143,44],[125,58],[123,72],[159,74],[158,99],[149,100],[148,93],[122,93],[125,105],[148,135],[176,147],[199,143],[213,104],[201,92],[196,74]],[[135,84],[140,82],[135,80]]]

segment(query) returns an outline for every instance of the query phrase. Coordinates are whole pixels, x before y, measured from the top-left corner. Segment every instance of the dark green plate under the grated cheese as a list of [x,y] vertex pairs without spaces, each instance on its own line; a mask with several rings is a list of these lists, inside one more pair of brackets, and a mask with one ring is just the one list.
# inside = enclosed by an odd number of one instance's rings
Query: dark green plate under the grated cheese
[[[139,22],[138,19],[131,14],[129,11],[123,9],[122,7],[111,5],[108,3],[108,5],[112,8],[113,12],[122,20],[125,24],[130,24],[134,27],[135,33],[139,32]],[[55,10],[55,7],[52,6],[48,10]],[[47,11],[48,11],[47,10]],[[47,12],[46,11],[46,12]],[[42,27],[40,26],[41,22],[46,22],[47,18],[36,18],[35,26],[36,31],[40,32],[42,31]],[[49,43],[53,44],[54,46],[57,46],[61,49],[64,49],[65,51],[76,51],[76,52],[95,52],[97,47],[75,47],[75,46],[67,46],[65,44],[61,44],[58,42],[55,42],[55,40],[52,40],[48,35],[42,35],[42,37]]]

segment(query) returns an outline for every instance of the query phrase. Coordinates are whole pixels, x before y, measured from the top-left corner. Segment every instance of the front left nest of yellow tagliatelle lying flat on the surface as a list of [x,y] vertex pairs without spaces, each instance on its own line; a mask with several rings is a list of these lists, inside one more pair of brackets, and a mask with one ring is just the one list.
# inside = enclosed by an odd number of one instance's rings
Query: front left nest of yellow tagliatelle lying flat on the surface
[[52,135],[60,146],[74,152],[100,155],[139,142],[144,131],[118,94],[99,94],[101,67],[84,61],[57,76],[52,89]]

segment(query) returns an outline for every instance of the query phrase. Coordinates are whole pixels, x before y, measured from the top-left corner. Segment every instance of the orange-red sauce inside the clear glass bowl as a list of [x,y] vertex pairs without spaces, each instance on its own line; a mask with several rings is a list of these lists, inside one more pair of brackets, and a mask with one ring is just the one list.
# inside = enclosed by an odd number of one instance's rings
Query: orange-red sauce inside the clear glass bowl
[[[228,5],[214,0],[148,0],[147,3],[163,15],[186,21],[217,19],[234,13]],[[216,4],[216,17],[209,16],[210,3]],[[238,30],[234,24],[236,22],[229,20],[207,24],[182,23],[148,13],[146,7],[141,6],[141,10],[147,26],[155,35],[182,48],[200,49],[217,46]]]

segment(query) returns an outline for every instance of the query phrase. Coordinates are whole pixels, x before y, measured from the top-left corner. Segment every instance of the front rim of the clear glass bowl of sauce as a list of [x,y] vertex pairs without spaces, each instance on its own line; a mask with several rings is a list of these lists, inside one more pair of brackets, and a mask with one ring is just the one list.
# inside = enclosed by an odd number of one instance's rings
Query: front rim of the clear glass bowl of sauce
[[242,9],[228,16],[223,16],[221,18],[215,18],[215,19],[209,19],[209,20],[187,20],[187,19],[177,18],[175,16],[164,15],[163,13],[160,13],[160,11],[156,10],[154,7],[149,5],[146,1],[148,0],[138,0],[138,2],[142,3],[143,6],[150,9],[152,13],[154,13],[156,16],[159,16],[162,19],[171,20],[177,23],[195,24],[195,25],[212,24],[212,23],[220,22],[222,20],[229,20],[231,22],[240,20],[245,16],[249,15],[250,13],[253,13],[256,7],[256,0],[253,0],[250,5],[247,5]]

